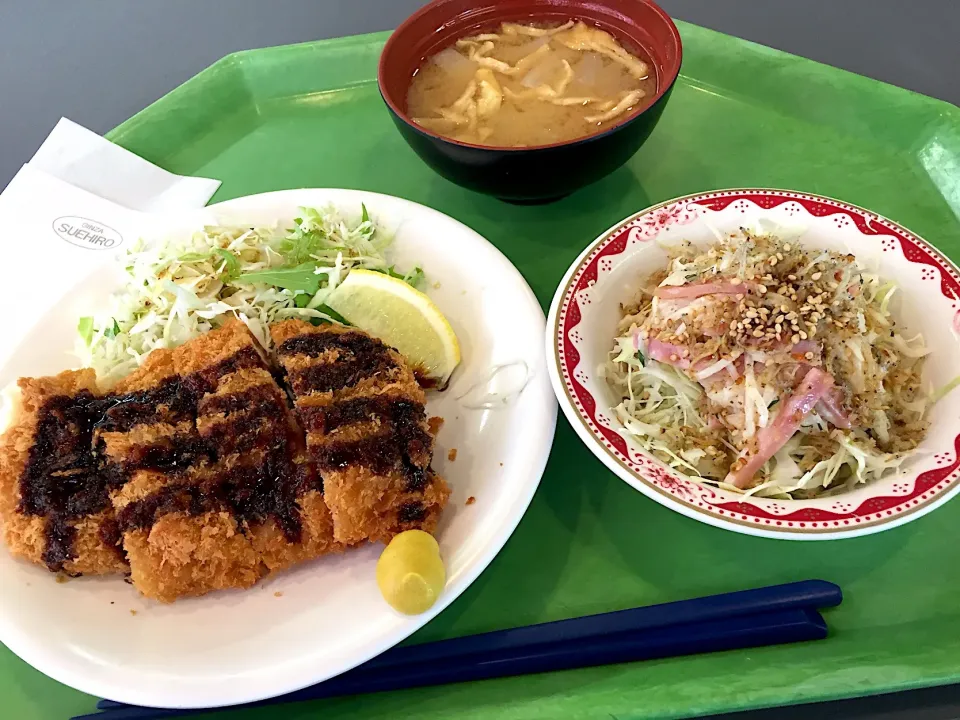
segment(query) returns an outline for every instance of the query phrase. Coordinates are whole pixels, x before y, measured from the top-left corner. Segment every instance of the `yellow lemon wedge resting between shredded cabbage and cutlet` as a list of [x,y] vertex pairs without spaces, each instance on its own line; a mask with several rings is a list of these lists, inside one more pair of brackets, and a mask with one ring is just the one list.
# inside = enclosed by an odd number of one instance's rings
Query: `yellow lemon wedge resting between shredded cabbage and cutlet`
[[383,340],[427,378],[446,384],[460,344],[433,301],[399,278],[351,270],[326,304],[351,325]]

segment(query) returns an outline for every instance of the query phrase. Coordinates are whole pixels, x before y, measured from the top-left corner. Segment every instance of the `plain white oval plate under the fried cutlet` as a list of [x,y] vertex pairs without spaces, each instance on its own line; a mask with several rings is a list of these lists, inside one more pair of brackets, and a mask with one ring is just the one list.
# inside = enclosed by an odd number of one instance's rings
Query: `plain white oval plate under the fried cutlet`
[[[435,210],[353,190],[288,190],[211,206],[223,223],[289,227],[298,206],[366,204],[396,231],[392,262],[420,265],[428,294],[460,339],[463,363],[448,390],[429,393],[427,411],[445,422],[434,467],[453,488],[437,535],[447,586],[427,613],[405,617],[377,590],[381,550],[370,545],[295,568],[246,591],[160,605],[120,577],[64,584],[46,570],[0,552],[0,640],[41,672],[92,695],[139,705],[196,708],[251,702],[342,673],[400,642],[453,602],[500,551],[530,503],[550,452],[556,401],[544,366],[543,311],[523,277],[480,235]],[[194,227],[196,227],[194,225]],[[81,280],[56,316],[35,330],[0,369],[18,373],[69,366],[77,313],[116,289],[115,272]],[[85,308],[85,309],[84,309]],[[512,366],[494,382],[523,385],[495,409],[458,401],[490,368]],[[508,388],[509,389],[509,388]],[[473,403],[475,404],[475,403]],[[456,461],[447,453],[457,449]],[[466,505],[469,497],[476,502]]]

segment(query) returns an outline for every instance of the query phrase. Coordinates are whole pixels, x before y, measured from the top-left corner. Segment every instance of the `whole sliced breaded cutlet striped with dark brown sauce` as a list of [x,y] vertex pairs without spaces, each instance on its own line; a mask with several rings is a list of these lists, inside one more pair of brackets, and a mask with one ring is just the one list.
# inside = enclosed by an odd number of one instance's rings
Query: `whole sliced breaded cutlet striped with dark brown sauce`
[[[295,411],[239,321],[152,352],[107,395],[91,370],[22,379],[23,411],[0,441],[0,520],[14,554],[71,574],[129,569],[140,592],[170,602],[432,531],[450,491],[430,467],[426,398],[403,358],[353,328],[271,331]],[[86,483],[71,501],[86,514],[56,526],[20,492],[43,433],[53,495],[61,476]]]

